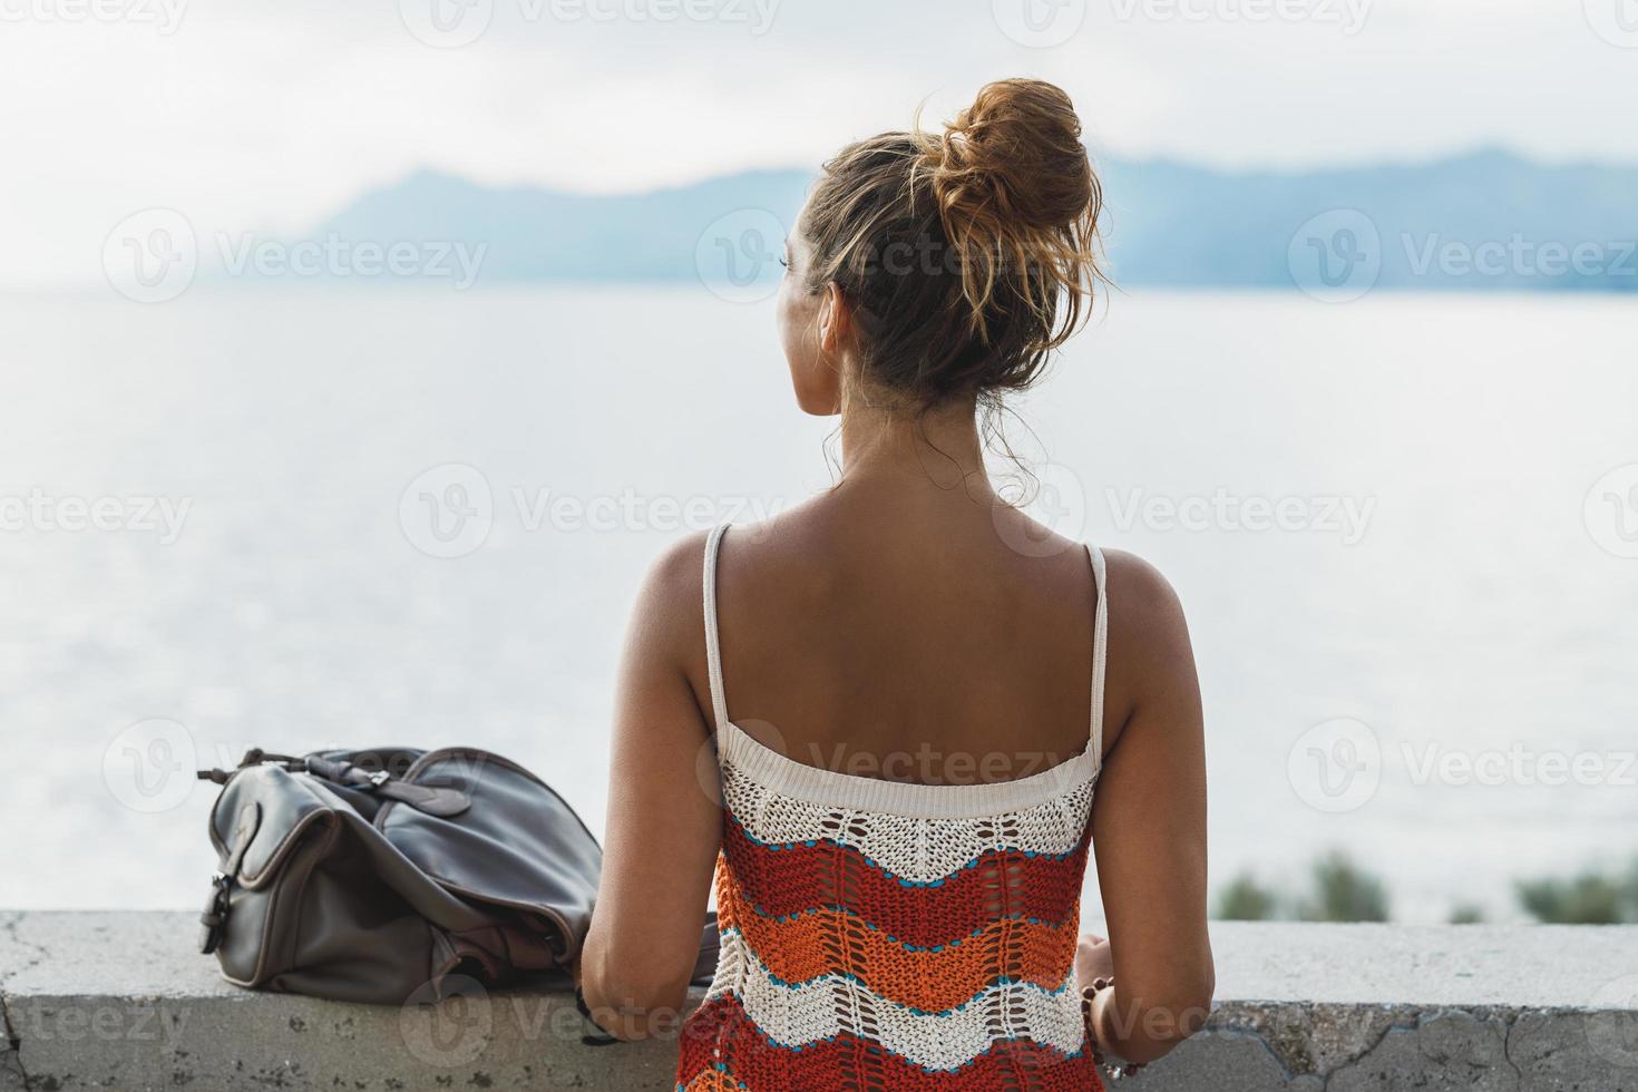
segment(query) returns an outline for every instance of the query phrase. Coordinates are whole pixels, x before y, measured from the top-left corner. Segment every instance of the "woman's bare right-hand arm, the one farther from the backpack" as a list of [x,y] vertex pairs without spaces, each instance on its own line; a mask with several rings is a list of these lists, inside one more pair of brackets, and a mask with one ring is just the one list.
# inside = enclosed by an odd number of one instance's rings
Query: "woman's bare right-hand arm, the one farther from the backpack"
[[1148,1063],[1206,1023],[1215,989],[1206,935],[1206,743],[1176,593],[1122,553],[1109,558],[1109,588],[1111,678],[1129,701],[1093,807],[1109,948],[1081,966],[1112,963],[1115,986],[1093,1007],[1097,1045]]

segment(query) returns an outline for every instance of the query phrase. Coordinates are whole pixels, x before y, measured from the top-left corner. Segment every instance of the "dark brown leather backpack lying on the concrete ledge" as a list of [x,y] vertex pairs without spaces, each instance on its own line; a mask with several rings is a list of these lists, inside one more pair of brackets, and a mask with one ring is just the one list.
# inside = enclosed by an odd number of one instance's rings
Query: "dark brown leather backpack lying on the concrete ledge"
[[[223,784],[200,950],[238,986],[403,1004],[460,974],[562,971],[603,851],[544,781],[490,751],[249,751]],[[696,972],[709,977],[716,930]]]

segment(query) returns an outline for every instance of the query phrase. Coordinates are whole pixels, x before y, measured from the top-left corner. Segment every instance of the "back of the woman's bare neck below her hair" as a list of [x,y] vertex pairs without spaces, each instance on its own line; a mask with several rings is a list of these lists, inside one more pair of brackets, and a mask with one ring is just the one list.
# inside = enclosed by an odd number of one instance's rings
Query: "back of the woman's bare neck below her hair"
[[934,486],[980,504],[994,503],[975,404],[958,403],[919,417],[848,406],[842,411],[842,485]]

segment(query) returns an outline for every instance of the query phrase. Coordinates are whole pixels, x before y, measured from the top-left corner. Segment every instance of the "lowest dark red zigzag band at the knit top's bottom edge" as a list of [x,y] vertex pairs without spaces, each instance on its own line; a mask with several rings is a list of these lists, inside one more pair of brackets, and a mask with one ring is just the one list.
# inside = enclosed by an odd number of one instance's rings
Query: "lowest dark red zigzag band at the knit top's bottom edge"
[[[929,1071],[868,1040],[840,1035],[793,1053],[770,1041],[745,1015],[739,999],[709,1002],[693,1017],[698,1036],[681,1043],[683,1072],[699,1074],[686,1092],[781,1089],[834,1092],[840,1087],[894,1092],[1086,1092],[1099,1087],[1086,1053],[1065,1054],[1027,1038],[1002,1040],[953,1071]],[[717,1061],[717,1043],[731,1043],[732,1066]],[[845,1074],[845,1076],[844,1076]]]

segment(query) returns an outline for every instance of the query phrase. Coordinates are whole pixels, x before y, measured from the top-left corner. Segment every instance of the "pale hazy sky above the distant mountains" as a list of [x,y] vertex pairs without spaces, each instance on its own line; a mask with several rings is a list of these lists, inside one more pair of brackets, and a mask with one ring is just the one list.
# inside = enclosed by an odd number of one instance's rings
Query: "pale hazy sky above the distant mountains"
[[143,208],[290,231],[416,167],[812,165],[1024,74],[1122,156],[1638,162],[1638,0],[0,0],[0,280],[100,275]]

